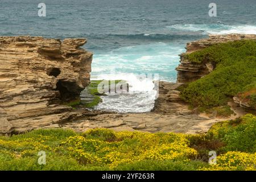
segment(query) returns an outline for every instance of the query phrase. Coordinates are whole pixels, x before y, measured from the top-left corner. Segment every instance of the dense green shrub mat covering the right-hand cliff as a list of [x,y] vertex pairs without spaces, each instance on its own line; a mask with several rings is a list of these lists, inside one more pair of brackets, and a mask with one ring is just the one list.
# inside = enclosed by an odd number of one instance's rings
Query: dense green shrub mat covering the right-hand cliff
[[[253,40],[216,44],[193,52],[187,58],[194,63],[211,61],[216,64],[213,72],[181,91],[181,98],[193,107],[225,105],[256,82],[256,42]],[[254,96],[250,98],[254,101]]]

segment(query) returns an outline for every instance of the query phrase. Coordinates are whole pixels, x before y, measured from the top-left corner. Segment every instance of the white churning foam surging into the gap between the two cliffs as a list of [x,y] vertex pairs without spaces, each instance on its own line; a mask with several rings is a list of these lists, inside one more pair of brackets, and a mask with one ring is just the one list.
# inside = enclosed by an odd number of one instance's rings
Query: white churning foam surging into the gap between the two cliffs
[[156,98],[154,77],[148,75],[135,75],[134,73],[113,73],[98,75],[105,80],[126,80],[129,84],[129,93],[109,93],[103,96],[103,102],[95,109],[118,111],[119,113],[141,113],[150,111],[154,107]]

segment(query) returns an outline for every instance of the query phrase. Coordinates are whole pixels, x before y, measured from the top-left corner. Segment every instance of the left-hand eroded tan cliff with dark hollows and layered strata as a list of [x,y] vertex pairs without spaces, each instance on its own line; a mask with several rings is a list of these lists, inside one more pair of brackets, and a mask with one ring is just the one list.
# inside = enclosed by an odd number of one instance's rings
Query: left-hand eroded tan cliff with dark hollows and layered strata
[[74,117],[61,105],[90,82],[92,53],[85,39],[0,37],[1,133],[17,133]]

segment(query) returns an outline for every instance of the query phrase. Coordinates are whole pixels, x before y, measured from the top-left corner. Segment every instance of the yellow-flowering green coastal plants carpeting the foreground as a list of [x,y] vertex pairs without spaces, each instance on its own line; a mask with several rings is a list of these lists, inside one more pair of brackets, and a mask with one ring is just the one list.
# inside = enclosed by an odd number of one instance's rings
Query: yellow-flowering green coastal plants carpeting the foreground
[[[38,152],[46,152],[46,164]],[[217,164],[208,164],[216,151]],[[39,129],[0,137],[0,170],[255,170],[256,117],[216,123],[207,134]]]

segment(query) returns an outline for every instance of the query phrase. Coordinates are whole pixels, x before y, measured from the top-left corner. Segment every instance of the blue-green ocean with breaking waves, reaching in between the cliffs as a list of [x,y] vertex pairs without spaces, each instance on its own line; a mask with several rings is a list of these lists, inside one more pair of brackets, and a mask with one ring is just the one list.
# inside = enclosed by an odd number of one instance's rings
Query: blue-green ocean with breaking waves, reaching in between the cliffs
[[[46,3],[46,17],[38,4]],[[144,112],[154,106],[151,81],[176,81],[185,44],[209,34],[256,34],[255,0],[0,0],[0,36],[87,38],[94,52],[92,79],[123,79],[133,92],[109,94],[96,109]]]

